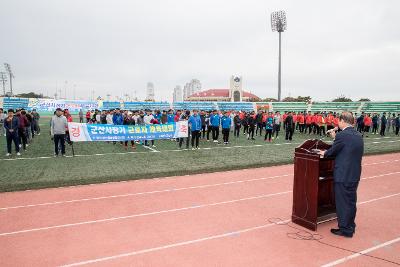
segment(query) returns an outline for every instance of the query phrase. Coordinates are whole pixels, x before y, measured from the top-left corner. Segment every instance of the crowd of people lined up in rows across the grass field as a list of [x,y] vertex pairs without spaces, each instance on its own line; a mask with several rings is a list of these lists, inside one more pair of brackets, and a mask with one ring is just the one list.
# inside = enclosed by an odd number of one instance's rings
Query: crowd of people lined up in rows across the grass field
[[[35,134],[40,134],[39,114],[32,110],[8,110],[5,115],[0,111],[0,118],[4,121],[4,135],[7,137],[7,155],[11,155],[11,143],[14,142],[17,155],[20,148],[26,149]],[[395,135],[399,135],[400,114],[354,114],[356,121],[354,127],[363,136],[368,134],[380,134],[385,136],[391,129]],[[200,139],[207,142],[228,145],[230,134],[234,138],[244,135],[248,140],[255,140],[262,136],[264,141],[272,142],[280,138],[283,131],[284,138],[291,141],[293,134],[324,136],[327,131],[338,127],[339,114],[336,112],[270,112],[265,110],[255,111],[205,111],[205,110],[89,110],[78,113],[79,122],[109,125],[146,125],[166,124],[178,121],[188,121],[189,135],[185,138],[173,139],[181,149],[190,146],[192,150],[199,149]],[[65,156],[65,142],[71,144],[68,134],[68,122],[73,118],[68,110],[57,109],[50,120],[50,134],[54,141],[54,156]],[[220,140],[220,133],[222,141]],[[112,142],[114,145],[116,142]],[[155,147],[154,140],[124,141],[120,142],[125,148],[135,149],[135,144],[145,147]]]

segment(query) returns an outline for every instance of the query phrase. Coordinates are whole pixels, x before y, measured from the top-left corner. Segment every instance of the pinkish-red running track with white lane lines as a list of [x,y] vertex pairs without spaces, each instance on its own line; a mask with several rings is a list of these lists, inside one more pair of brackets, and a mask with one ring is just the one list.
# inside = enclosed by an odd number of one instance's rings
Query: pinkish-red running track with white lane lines
[[395,266],[399,163],[364,157],[357,232],[325,244],[290,238],[293,165],[2,193],[0,265]]

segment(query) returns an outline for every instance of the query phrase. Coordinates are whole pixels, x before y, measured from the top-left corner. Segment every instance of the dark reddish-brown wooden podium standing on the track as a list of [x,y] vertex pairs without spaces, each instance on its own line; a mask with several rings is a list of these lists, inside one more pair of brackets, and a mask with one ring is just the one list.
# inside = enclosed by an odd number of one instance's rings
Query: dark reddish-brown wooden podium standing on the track
[[333,158],[320,158],[317,150],[331,145],[307,140],[295,149],[292,222],[310,230],[336,218]]

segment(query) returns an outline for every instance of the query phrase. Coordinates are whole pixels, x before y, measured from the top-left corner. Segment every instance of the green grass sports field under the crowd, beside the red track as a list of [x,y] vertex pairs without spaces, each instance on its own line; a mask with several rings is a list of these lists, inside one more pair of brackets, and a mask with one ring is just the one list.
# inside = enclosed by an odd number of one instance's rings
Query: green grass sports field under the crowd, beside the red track
[[[296,146],[314,138],[295,133],[288,143],[281,131],[278,140],[266,143],[263,137],[251,141],[242,134],[236,139],[231,133],[230,145],[201,140],[201,149],[196,151],[178,150],[177,143],[170,140],[156,141],[156,151],[141,145],[126,151],[119,143],[88,142],[74,144],[76,157],[53,158],[48,121],[41,120],[41,135],[18,160],[15,155],[5,156],[5,138],[0,138],[0,192],[287,164],[293,161]],[[67,156],[72,156],[71,147],[67,145],[66,150]],[[390,152],[400,152],[400,138],[393,132],[386,138],[365,138],[365,154]]]

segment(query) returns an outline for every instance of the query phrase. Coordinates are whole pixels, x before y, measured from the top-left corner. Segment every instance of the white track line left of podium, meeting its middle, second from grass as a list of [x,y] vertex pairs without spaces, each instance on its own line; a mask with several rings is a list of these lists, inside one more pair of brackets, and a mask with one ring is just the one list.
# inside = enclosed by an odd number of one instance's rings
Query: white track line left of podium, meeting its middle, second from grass
[[111,218],[107,218],[107,219],[91,220],[91,221],[84,221],[84,222],[78,222],[78,223],[68,223],[68,224],[61,224],[61,225],[53,225],[53,226],[39,227],[39,228],[33,228],[33,229],[25,229],[25,230],[13,231],[13,232],[0,233],[0,237],[1,236],[22,234],[22,233],[38,232],[38,231],[57,229],[57,228],[66,228],[66,227],[72,227],[72,226],[78,226],[78,225],[87,225],[87,224],[95,224],[95,223],[102,223],[102,222],[111,222],[111,221],[117,221],[117,220],[123,220],[123,219],[131,219],[131,218],[137,218],[137,217],[144,217],[144,216],[157,215],[157,214],[165,214],[165,213],[170,213],[170,212],[185,211],[185,210],[192,210],[192,209],[205,208],[205,207],[213,207],[213,206],[219,206],[219,205],[224,205],[224,204],[232,204],[232,203],[241,202],[241,201],[248,201],[248,200],[254,200],[254,199],[261,199],[261,198],[279,196],[279,195],[289,194],[291,192],[292,191],[284,191],[284,192],[278,192],[278,193],[273,193],[273,194],[258,195],[258,196],[252,196],[252,197],[246,197],[246,198],[239,198],[239,199],[215,202],[215,203],[210,203],[210,204],[187,206],[187,207],[183,207],[183,208],[160,210],[160,211],[153,211],[153,212],[148,212],[148,213],[139,213],[139,214],[132,214],[132,215],[127,215],[127,216],[111,217]]

